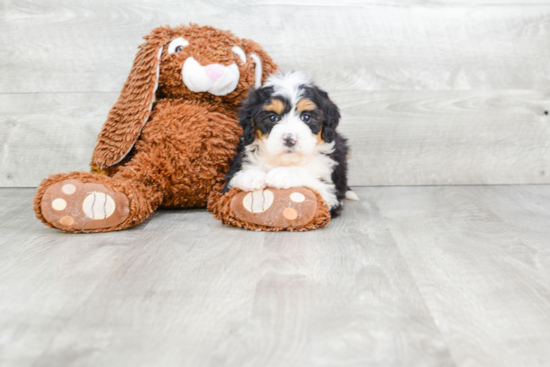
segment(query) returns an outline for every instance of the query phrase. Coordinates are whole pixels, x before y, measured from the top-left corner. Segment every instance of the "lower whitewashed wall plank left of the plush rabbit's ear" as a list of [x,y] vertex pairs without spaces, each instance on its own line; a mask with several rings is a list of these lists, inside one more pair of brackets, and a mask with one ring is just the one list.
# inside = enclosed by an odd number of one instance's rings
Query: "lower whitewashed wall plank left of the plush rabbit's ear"
[[88,171],[116,93],[0,95],[0,186],[38,186],[49,174]]

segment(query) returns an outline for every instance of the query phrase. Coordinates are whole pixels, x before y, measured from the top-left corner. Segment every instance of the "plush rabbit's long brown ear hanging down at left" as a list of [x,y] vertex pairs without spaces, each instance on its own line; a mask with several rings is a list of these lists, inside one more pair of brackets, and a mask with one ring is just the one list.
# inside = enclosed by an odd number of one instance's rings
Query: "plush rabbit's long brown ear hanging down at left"
[[97,138],[92,166],[106,169],[119,163],[136,143],[153,108],[165,33],[164,29],[155,29],[139,47],[120,97]]

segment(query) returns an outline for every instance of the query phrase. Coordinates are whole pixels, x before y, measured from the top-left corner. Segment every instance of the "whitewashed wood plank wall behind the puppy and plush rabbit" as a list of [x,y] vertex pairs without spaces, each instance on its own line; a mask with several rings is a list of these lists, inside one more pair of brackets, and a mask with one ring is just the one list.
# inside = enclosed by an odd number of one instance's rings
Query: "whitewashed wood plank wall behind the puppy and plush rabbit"
[[0,0],[0,186],[88,170],[141,37],[189,22],[326,89],[352,185],[550,183],[550,0]]

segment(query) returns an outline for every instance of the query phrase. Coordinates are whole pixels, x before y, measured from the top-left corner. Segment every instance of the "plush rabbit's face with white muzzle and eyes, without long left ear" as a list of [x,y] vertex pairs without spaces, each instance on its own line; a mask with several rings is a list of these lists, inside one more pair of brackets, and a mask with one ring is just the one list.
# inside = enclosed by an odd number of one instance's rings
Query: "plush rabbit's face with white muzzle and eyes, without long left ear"
[[259,87],[274,71],[255,42],[228,31],[191,25],[161,32],[168,39],[160,59],[159,97],[239,104],[250,87]]

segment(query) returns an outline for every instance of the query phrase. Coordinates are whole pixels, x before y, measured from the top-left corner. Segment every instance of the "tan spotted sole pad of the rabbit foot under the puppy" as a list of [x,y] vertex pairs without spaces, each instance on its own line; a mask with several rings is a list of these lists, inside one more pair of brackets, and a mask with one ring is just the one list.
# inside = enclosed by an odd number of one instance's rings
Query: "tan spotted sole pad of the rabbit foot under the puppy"
[[304,187],[240,192],[231,200],[231,210],[242,221],[266,227],[300,227],[317,210],[317,197]]

